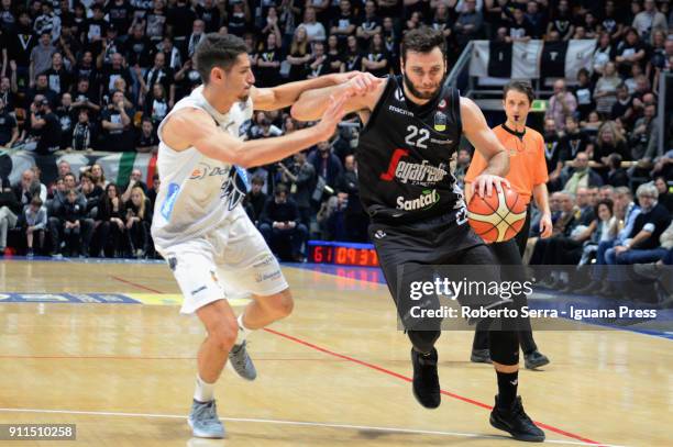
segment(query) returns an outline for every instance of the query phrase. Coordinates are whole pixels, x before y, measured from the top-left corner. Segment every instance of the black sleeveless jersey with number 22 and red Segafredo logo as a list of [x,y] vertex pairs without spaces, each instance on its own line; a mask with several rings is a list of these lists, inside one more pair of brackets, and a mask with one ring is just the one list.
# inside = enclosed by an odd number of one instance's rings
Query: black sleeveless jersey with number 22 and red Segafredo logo
[[401,77],[389,77],[357,145],[360,197],[372,220],[454,214],[463,223],[465,202],[452,168],[461,133],[457,90],[443,87],[417,105],[405,97]]

